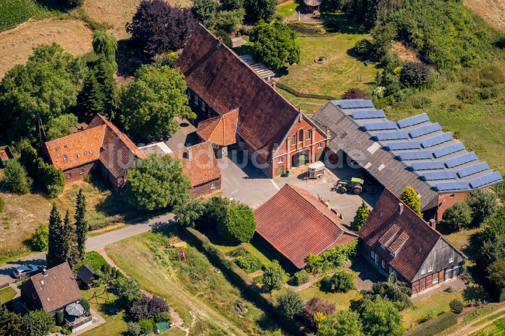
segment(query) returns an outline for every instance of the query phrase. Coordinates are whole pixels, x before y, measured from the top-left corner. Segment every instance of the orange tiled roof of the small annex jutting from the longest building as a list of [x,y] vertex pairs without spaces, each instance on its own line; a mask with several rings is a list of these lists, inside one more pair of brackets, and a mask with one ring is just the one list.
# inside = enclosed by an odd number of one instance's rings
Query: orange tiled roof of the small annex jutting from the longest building
[[238,108],[235,108],[224,115],[199,122],[196,134],[205,141],[229,146],[237,142],[237,122]]

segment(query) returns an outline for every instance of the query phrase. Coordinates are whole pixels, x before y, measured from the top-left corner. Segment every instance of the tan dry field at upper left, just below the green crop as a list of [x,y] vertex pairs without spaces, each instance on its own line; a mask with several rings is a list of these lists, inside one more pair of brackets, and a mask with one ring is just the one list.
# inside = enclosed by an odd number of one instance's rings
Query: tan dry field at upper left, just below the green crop
[[32,48],[42,43],[57,42],[73,55],[91,50],[93,33],[77,20],[44,19],[25,22],[0,33],[0,78],[17,64],[24,64]]

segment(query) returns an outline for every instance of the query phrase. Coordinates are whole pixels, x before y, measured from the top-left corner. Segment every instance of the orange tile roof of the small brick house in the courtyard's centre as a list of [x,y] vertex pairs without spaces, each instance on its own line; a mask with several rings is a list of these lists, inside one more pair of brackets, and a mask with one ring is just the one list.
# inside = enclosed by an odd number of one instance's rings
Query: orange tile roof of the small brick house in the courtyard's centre
[[[188,159],[188,150],[191,151],[191,159]],[[221,177],[218,161],[209,142],[199,143],[167,155],[182,159],[184,163],[183,172],[189,178],[193,187]]]

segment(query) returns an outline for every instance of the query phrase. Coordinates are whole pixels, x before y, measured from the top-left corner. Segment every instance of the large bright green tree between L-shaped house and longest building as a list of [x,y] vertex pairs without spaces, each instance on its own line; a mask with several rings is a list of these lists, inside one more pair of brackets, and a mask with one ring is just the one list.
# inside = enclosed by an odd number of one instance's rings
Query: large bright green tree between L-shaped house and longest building
[[121,91],[121,120],[127,131],[142,138],[175,133],[175,117],[195,119],[188,106],[184,76],[168,66],[143,65],[135,82]]

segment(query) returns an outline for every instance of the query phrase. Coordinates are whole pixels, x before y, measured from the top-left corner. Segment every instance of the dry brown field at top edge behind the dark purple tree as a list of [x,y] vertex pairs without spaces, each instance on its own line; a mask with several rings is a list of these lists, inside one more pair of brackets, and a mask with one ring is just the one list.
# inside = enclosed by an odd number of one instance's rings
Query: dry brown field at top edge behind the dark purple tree
[[[191,6],[190,0],[170,0],[170,4]],[[131,20],[140,0],[84,0],[82,8],[97,21],[112,26],[110,33],[116,38],[128,37],[125,24]]]

